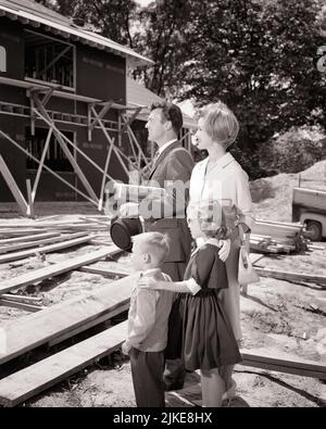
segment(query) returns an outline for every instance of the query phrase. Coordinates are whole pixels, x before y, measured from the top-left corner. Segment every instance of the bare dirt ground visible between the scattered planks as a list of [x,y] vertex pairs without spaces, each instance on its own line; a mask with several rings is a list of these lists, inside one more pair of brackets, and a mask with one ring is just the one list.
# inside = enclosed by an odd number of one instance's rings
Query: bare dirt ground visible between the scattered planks
[[[318,163],[321,164],[321,163]],[[326,164],[316,164],[324,168]],[[279,175],[264,179],[264,186],[253,182],[252,194],[258,217],[269,220],[290,220],[291,187],[297,185],[297,175]],[[262,179],[260,179],[262,180]],[[262,182],[261,182],[262,185]],[[265,191],[264,191],[265,189]],[[264,194],[265,192],[265,194]],[[89,204],[49,204],[36,207],[39,218],[58,214],[58,219],[72,220],[76,214],[96,214]],[[1,222],[16,222],[14,204],[0,204]],[[26,223],[29,220],[26,219]],[[104,239],[105,237],[103,237]],[[326,276],[326,242],[314,243],[324,248],[304,254],[266,255],[259,265],[266,268],[286,269]],[[0,280],[15,277],[30,269],[40,268],[50,262],[60,262],[71,256],[85,254],[101,245],[83,245],[70,251],[48,254],[46,261],[29,257],[0,267]],[[128,267],[128,255],[117,262]],[[100,262],[108,266],[112,262]],[[100,275],[78,270],[45,280],[25,289],[24,293],[41,298],[43,305],[53,305],[63,300],[90,293],[112,281]],[[16,291],[20,293],[18,291]],[[22,292],[22,291],[21,291]],[[3,327],[28,313],[0,306],[0,326]],[[294,285],[272,278],[261,278],[251,285],[248,295],[241,296],[241,325],[246,349],[261,349],[272,355],[287,353],[294,358],[311,359],[326,365],[326,290],[313,283]],[[263,369],[237,366],[235,371],[237,396],[224,406],[231,407],[323,407],[326,404],[326,386],[318,379],[273,373]],[[199,376],[188,373],[183,390],[166,394],[167,406],[189,407],[201,404]],[[128,358],[114,353],[98,364],[61,382],[43,394],[23,404],[27,407],[85,407],[122,406],[134,407],[134,392]]]

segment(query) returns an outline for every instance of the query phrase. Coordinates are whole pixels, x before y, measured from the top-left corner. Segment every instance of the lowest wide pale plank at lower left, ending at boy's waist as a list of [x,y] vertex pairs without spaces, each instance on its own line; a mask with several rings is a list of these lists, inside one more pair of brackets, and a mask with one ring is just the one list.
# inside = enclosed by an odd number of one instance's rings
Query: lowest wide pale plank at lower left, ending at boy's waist
[[127,321],[0,380],[0,404],[15,406],[118,349]]

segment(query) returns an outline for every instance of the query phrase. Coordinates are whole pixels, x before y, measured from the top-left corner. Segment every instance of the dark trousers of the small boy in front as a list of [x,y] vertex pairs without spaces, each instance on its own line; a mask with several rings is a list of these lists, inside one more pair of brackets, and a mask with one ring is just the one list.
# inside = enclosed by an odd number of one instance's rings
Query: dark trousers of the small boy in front
[[164,351],[129,352],[136,404],[139,407],[164,407]]

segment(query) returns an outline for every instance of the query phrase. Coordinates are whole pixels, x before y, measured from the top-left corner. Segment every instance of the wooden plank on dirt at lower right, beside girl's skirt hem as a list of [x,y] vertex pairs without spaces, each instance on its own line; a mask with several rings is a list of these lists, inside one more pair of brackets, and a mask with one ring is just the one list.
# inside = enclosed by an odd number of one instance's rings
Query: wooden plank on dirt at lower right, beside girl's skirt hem
[[314,361],[299,359],[285,353],[275,356],[275,352],[272,355],[261,350],[241,349],[240,352],[242,362],[239,365],[326,380],[326,366]]

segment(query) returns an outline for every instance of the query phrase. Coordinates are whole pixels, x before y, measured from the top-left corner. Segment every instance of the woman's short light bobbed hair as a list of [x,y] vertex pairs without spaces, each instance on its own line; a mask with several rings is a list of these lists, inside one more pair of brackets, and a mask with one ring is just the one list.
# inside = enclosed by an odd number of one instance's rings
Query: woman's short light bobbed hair
[[239,133],[238,119],[222,101],[203,106],[198,116],[203,118],[204,131],[225,149],[236,141]]

